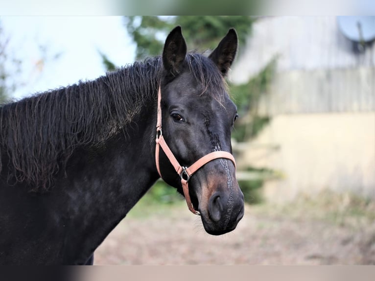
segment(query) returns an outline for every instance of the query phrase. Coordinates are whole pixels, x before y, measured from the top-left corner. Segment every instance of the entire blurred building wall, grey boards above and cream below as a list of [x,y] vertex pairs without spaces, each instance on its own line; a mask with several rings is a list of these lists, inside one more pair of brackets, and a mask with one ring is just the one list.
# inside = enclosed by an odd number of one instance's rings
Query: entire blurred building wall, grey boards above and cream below
[[281,172],[265,184],[271,201],[324,188],[375,198],[375,44],[355,51],[336,17],[263,18],[231,80],[246,82],[275,55],[275,79],[259,108],[272,119],[236,157],[238,166]]

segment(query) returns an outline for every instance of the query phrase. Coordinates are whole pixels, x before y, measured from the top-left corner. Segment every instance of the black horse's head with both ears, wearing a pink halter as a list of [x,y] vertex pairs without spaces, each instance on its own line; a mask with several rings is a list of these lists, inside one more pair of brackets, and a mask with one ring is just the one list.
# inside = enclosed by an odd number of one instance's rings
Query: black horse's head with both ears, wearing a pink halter
[[[208,57],[187,54],[178,26],[167,36],[162,56],[156,133],[159,173],[185,195],[191,204],[189,209],[201,214],[205,230],[214,235],[234,230],[244,213],[244,198],[231,156],[231,131],[237,111],[225,82],[236,50],[237,35],[230,29]],[[158,151],[160,135],[165,144]],[[224,153],[215,154],[218,151]],[[196,164],[206,155],[213,157]],[[184,183],[188,183],[185,192]]]

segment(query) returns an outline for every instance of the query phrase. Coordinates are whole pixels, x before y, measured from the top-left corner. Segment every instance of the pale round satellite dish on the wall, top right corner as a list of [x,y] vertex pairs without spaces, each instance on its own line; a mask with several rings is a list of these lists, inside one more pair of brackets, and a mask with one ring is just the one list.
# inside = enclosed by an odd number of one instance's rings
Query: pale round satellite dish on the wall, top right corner
[[375,39],[375,16],[337,17],[340,31],[348,39],[364,45]]

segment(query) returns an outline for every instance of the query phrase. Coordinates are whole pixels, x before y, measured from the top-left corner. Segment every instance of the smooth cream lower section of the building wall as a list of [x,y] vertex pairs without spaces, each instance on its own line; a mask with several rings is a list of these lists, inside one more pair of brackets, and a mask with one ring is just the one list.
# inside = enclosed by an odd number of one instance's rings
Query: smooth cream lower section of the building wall
[[283,202],[322,189],[375,198],[375,113],[278,115],[236,156],[238,166],[281,173],[264,185],[266,199]]

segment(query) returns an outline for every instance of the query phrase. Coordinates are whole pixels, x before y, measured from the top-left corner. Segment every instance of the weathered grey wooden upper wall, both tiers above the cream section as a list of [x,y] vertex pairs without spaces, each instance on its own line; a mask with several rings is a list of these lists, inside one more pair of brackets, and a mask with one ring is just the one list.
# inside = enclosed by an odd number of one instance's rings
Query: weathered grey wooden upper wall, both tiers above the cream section
[[339,31],[336,17],[258,20],[232,81],[246,82],[275,55],[277,74],[261,113],[375,111],[375,44],[358,52]]

